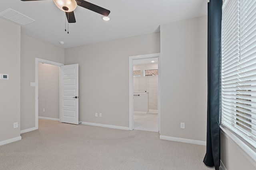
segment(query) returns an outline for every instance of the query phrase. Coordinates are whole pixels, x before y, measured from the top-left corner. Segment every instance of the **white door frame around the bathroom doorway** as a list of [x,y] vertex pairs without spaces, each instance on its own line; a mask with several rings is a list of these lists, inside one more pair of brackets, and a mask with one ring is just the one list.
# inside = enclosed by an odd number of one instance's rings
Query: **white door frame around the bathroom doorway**
[[133,130],[133,61],[158,57],[158,130],[160,133],[160,53],[129,57],[129,130]]

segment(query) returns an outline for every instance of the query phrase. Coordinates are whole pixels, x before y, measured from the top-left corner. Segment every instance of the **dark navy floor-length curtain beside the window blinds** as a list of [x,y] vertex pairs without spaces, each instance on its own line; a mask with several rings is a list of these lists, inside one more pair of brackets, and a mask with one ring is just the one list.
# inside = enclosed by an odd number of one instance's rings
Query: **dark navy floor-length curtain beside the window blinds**
[[220,167],[222,0],[208,2],[208,103],[204,164]]

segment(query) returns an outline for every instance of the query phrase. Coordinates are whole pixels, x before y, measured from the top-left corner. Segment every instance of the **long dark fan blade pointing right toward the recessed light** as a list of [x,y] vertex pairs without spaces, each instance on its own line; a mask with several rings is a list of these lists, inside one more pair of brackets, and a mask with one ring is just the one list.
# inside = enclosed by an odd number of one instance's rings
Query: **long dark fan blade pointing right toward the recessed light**
[[87,8],[88,10],[92,10],[92,11],[102,14],[104,16],[108,16],[110,13],[110,10],[106,10],[105,8],[94,5],[94,4],[84,1],[84,0],[76,0],[76,3],[78,6],[82,6],[84,8]]

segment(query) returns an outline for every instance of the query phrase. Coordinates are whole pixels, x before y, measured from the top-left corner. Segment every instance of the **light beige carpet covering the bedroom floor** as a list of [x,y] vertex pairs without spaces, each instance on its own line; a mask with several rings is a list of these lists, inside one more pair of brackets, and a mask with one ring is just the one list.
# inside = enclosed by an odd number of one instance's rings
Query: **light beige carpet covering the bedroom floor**
[[39,129],[0,146],[1,170],[208,170],[206,147],[159,133],[39,120]]

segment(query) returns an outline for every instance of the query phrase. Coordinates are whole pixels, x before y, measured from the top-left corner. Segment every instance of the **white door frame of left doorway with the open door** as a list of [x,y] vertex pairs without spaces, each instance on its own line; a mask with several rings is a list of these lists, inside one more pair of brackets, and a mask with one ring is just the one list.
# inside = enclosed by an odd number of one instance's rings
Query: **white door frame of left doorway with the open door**
[[35,59],[35,129],[38,129],[38,63],[52,64],[59,67],[64,65],[63,63],[57,63],[45,59]]

